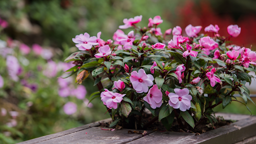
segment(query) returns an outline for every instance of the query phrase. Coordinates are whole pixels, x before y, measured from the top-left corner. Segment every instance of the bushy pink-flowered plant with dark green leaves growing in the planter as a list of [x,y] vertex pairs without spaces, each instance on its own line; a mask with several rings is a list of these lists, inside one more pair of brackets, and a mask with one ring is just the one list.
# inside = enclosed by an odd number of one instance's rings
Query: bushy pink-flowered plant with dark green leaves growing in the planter
[[[114,120],[110,127],[135,120],[145,128],[158,119],[169,129],[176,117],[180,127],[184,121],[194,128],[205,118],[217,121],[212,109],[218,104],[225,108],[232,101],[245,106],[248,99],[253,102],[244,84],[251,82],[247,73],[256,71],[256,53],[229,41],[239,35],[240,27],[229,25],[230,35],[220,36],[217,25],[205,27],[209,34],[199,34],[202,27],[189,24],[182,36],[181,27],[176,26],[168,39],[171,28],[162,34],[157,27],[162,23],[160,16],[149,18],[142,28],[136,25],[141,18],[123,19],[119,28],[134,30],[125,34],[117,29],[113,41],[100,39],[101,32],[76,35],[72,40],[80,51],[65,59],[75,64],[67,71],[77,75],[77,83],[91,74],[99,91],[90,98],[101,97]],[[244,102],[236,100],[235,91]],[[142,124],[144,108],[153,118]],[[134,114],[139,120],[131,118]]]

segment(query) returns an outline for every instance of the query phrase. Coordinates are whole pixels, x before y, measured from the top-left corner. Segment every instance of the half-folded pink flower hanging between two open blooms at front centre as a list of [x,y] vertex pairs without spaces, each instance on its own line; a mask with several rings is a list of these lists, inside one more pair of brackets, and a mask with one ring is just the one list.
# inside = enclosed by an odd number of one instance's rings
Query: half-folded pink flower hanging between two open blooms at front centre
[[162,104],[162,92],[158,89],[157,85],[154,84],[153,87],[148,90],[146,96],[143,97],[143,100],[150,104],[153,109],[160,107]]

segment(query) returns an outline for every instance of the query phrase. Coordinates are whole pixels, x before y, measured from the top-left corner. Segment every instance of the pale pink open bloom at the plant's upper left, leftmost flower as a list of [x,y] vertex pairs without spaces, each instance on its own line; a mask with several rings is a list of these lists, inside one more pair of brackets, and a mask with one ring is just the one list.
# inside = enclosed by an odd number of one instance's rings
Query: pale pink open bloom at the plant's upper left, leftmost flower
[[91,36],[85,32],[84,34],[75,35],[75,38],[72,38],[72,41],[79,50],[88,50],[92,47],[92,45],[98,45],[97,37]]

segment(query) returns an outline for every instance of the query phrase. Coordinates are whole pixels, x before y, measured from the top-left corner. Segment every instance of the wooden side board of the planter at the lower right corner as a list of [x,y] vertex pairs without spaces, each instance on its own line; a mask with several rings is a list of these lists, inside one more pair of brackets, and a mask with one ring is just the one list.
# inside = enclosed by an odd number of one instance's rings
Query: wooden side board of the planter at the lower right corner
[[256,135],[256,117],[250,116],[230,125],[225,125],[200,135],[189,137],[181,143],[235,143]]

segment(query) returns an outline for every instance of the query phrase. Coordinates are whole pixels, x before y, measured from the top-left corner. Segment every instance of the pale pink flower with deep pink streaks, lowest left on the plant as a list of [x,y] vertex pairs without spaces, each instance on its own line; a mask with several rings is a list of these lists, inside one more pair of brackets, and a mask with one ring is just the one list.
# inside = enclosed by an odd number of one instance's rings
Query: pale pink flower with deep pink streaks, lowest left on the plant
[[120,94],[117,92],[111,92],[111,91],[103,91],[100,93],[101,100],[108,108],[117,108],[117,103],[122,101],[122,97],[125,94]]

